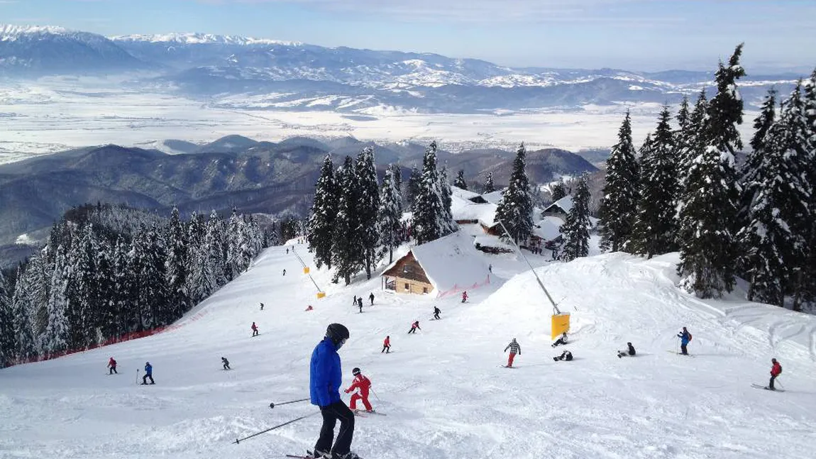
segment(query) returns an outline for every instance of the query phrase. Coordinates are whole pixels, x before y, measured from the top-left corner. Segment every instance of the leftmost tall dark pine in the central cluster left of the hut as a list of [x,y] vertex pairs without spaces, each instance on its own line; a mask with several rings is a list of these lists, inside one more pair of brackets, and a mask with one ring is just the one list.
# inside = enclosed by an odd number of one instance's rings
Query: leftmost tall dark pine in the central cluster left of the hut
[[335,165],[331,155],[323,158],[320,178],[314,190],[314,203],[308,219],[309,250],[314,253],[314,264],[320,269],[324,264],[331,269],[331,249],[335,242],[335,218],[339,196],[335,183]]

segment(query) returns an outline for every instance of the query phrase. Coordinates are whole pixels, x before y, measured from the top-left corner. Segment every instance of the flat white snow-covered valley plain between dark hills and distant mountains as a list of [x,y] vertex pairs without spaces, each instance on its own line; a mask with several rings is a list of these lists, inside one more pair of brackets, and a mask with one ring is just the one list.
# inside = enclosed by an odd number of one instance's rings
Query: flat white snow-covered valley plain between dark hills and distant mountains
[[[135,78],[135,76],[130,76]],[[396,142],[436,139],[443,148],[556,147],[577,152],[609,148],[623,113],[632,111],[637,143],[654,129],[659,104],[586,105],[531,112],[423,114],[389,107],[353,113],[287,111],[266,102],[273,95],[185,99],[168,88],[145,90],[122,77],[44,77],[0,80],[0,163],[35,154],[106,143],[161,148],[166,139],[207,143],[224,135],[279,141],[302,135]],[[317,100],[314,104],[319,105]],[[230,108],[225,108],[230,107]],[[746,119],[753,114],[747,113]],[[750,123],[743,124],[743,137]]]

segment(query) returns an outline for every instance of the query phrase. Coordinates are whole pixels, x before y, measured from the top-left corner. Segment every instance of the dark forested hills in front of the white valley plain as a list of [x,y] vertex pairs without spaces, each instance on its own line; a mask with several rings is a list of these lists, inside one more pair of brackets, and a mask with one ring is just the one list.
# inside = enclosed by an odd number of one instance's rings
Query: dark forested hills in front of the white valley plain
[[[185,215],[211,210],[228,213],[233,207],[243,213],[304,215],[326,154],[339,164],[345,155],[373,146],[379,173],[398,161],[407,183],[410,168],[421,167],[425,148],[417,143],[373,144],[351,138],[272,143],[238,135],[203,146],[181,140],[166,144],[185,152],[171,155],[107,145],[0,166],[0,246],[14,243],[20,235],[37,241],[65,210],[97,201],[161,214],[169,214],[175,205]],[[497,185],[507,183],[512,158],[512,152],[498,149],[439,152],[440,165],[448,167],[451,180],[457,170],[464,170],[477,189],[489,172]],[[564,150],[528,153],[532,183],[595,170],[582,157]]]

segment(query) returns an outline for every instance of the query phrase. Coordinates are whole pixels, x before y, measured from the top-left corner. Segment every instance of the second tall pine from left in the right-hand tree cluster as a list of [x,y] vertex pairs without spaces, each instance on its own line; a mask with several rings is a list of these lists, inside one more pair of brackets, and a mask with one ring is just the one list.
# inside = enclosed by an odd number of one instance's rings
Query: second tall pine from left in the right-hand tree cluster
[[641,155],[632,251],[646,258],[676,250],[677,163],[670,119],[664,106],[650,146]]

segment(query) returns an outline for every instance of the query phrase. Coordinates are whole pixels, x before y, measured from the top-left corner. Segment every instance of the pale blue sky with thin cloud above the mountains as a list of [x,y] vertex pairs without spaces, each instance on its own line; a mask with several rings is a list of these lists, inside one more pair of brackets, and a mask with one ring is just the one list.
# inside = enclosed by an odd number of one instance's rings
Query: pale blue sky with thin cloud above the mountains
[[203,32],[517,67],[753,73],[816,66],[816,0],[0,0],[0,23]]

